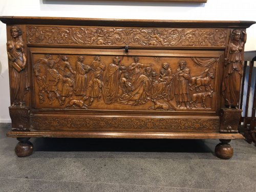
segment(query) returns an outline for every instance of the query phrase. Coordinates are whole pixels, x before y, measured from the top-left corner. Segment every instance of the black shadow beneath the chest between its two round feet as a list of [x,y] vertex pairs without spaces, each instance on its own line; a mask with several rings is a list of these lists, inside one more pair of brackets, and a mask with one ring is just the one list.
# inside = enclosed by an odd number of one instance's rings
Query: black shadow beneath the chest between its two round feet
[[35,138],[32,142],[34,151],[212,153],[204,140],[194,139]]

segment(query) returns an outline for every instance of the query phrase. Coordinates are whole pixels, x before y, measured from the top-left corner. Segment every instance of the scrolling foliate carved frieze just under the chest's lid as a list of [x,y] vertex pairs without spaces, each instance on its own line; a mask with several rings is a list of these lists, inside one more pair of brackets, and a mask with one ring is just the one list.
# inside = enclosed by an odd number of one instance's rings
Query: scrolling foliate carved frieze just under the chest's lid
[[225,47],[226,29],[27,26],[28,44]]

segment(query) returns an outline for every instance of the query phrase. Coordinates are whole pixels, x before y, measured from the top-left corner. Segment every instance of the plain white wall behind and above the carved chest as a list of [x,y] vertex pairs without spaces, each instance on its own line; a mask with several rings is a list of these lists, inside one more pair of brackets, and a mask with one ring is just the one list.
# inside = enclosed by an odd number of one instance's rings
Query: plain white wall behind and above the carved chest
[[[200,3],[153,3],[86,0],[0,0],[3,16],[87,18],[256,20],[254,0],[208,0]],[[256,25],[247,29],[245,51],[256,50]],[[0,23],[0,122],[10,122],[6,26]]]

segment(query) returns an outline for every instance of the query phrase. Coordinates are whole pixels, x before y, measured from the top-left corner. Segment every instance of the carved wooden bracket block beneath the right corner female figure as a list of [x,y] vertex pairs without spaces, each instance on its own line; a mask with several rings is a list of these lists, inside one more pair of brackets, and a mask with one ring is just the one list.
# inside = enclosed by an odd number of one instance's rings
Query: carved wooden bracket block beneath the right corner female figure
[[241,118],[242,110],[237,109],[221,109],[221,133],[237,133],[238,124]]

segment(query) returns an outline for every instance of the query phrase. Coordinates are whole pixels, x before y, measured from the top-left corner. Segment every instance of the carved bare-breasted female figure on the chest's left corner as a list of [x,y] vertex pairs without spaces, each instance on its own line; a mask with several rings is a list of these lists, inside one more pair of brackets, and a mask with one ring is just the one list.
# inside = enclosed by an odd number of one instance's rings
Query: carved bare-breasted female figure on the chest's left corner
[[11,39],[7,41],[7,54],[10,60],[11,105],[22,106],[25,104],[25,89],[29,87],[24,71],[27,58],[24,52],[22,30],[13,26],[10,32]]

